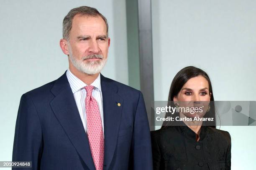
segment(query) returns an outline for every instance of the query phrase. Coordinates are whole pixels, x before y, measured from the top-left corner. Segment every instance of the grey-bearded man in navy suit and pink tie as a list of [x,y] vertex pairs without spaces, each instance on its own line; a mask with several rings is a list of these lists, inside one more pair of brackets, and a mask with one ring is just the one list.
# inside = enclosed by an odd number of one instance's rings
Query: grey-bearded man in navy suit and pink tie
[[67,14],[60,46],[69,69],[22,95],[13,161],[32,161],[33,170],[152,169],[141,92],[100,74],[109,45],[107,20],[95,8]]

